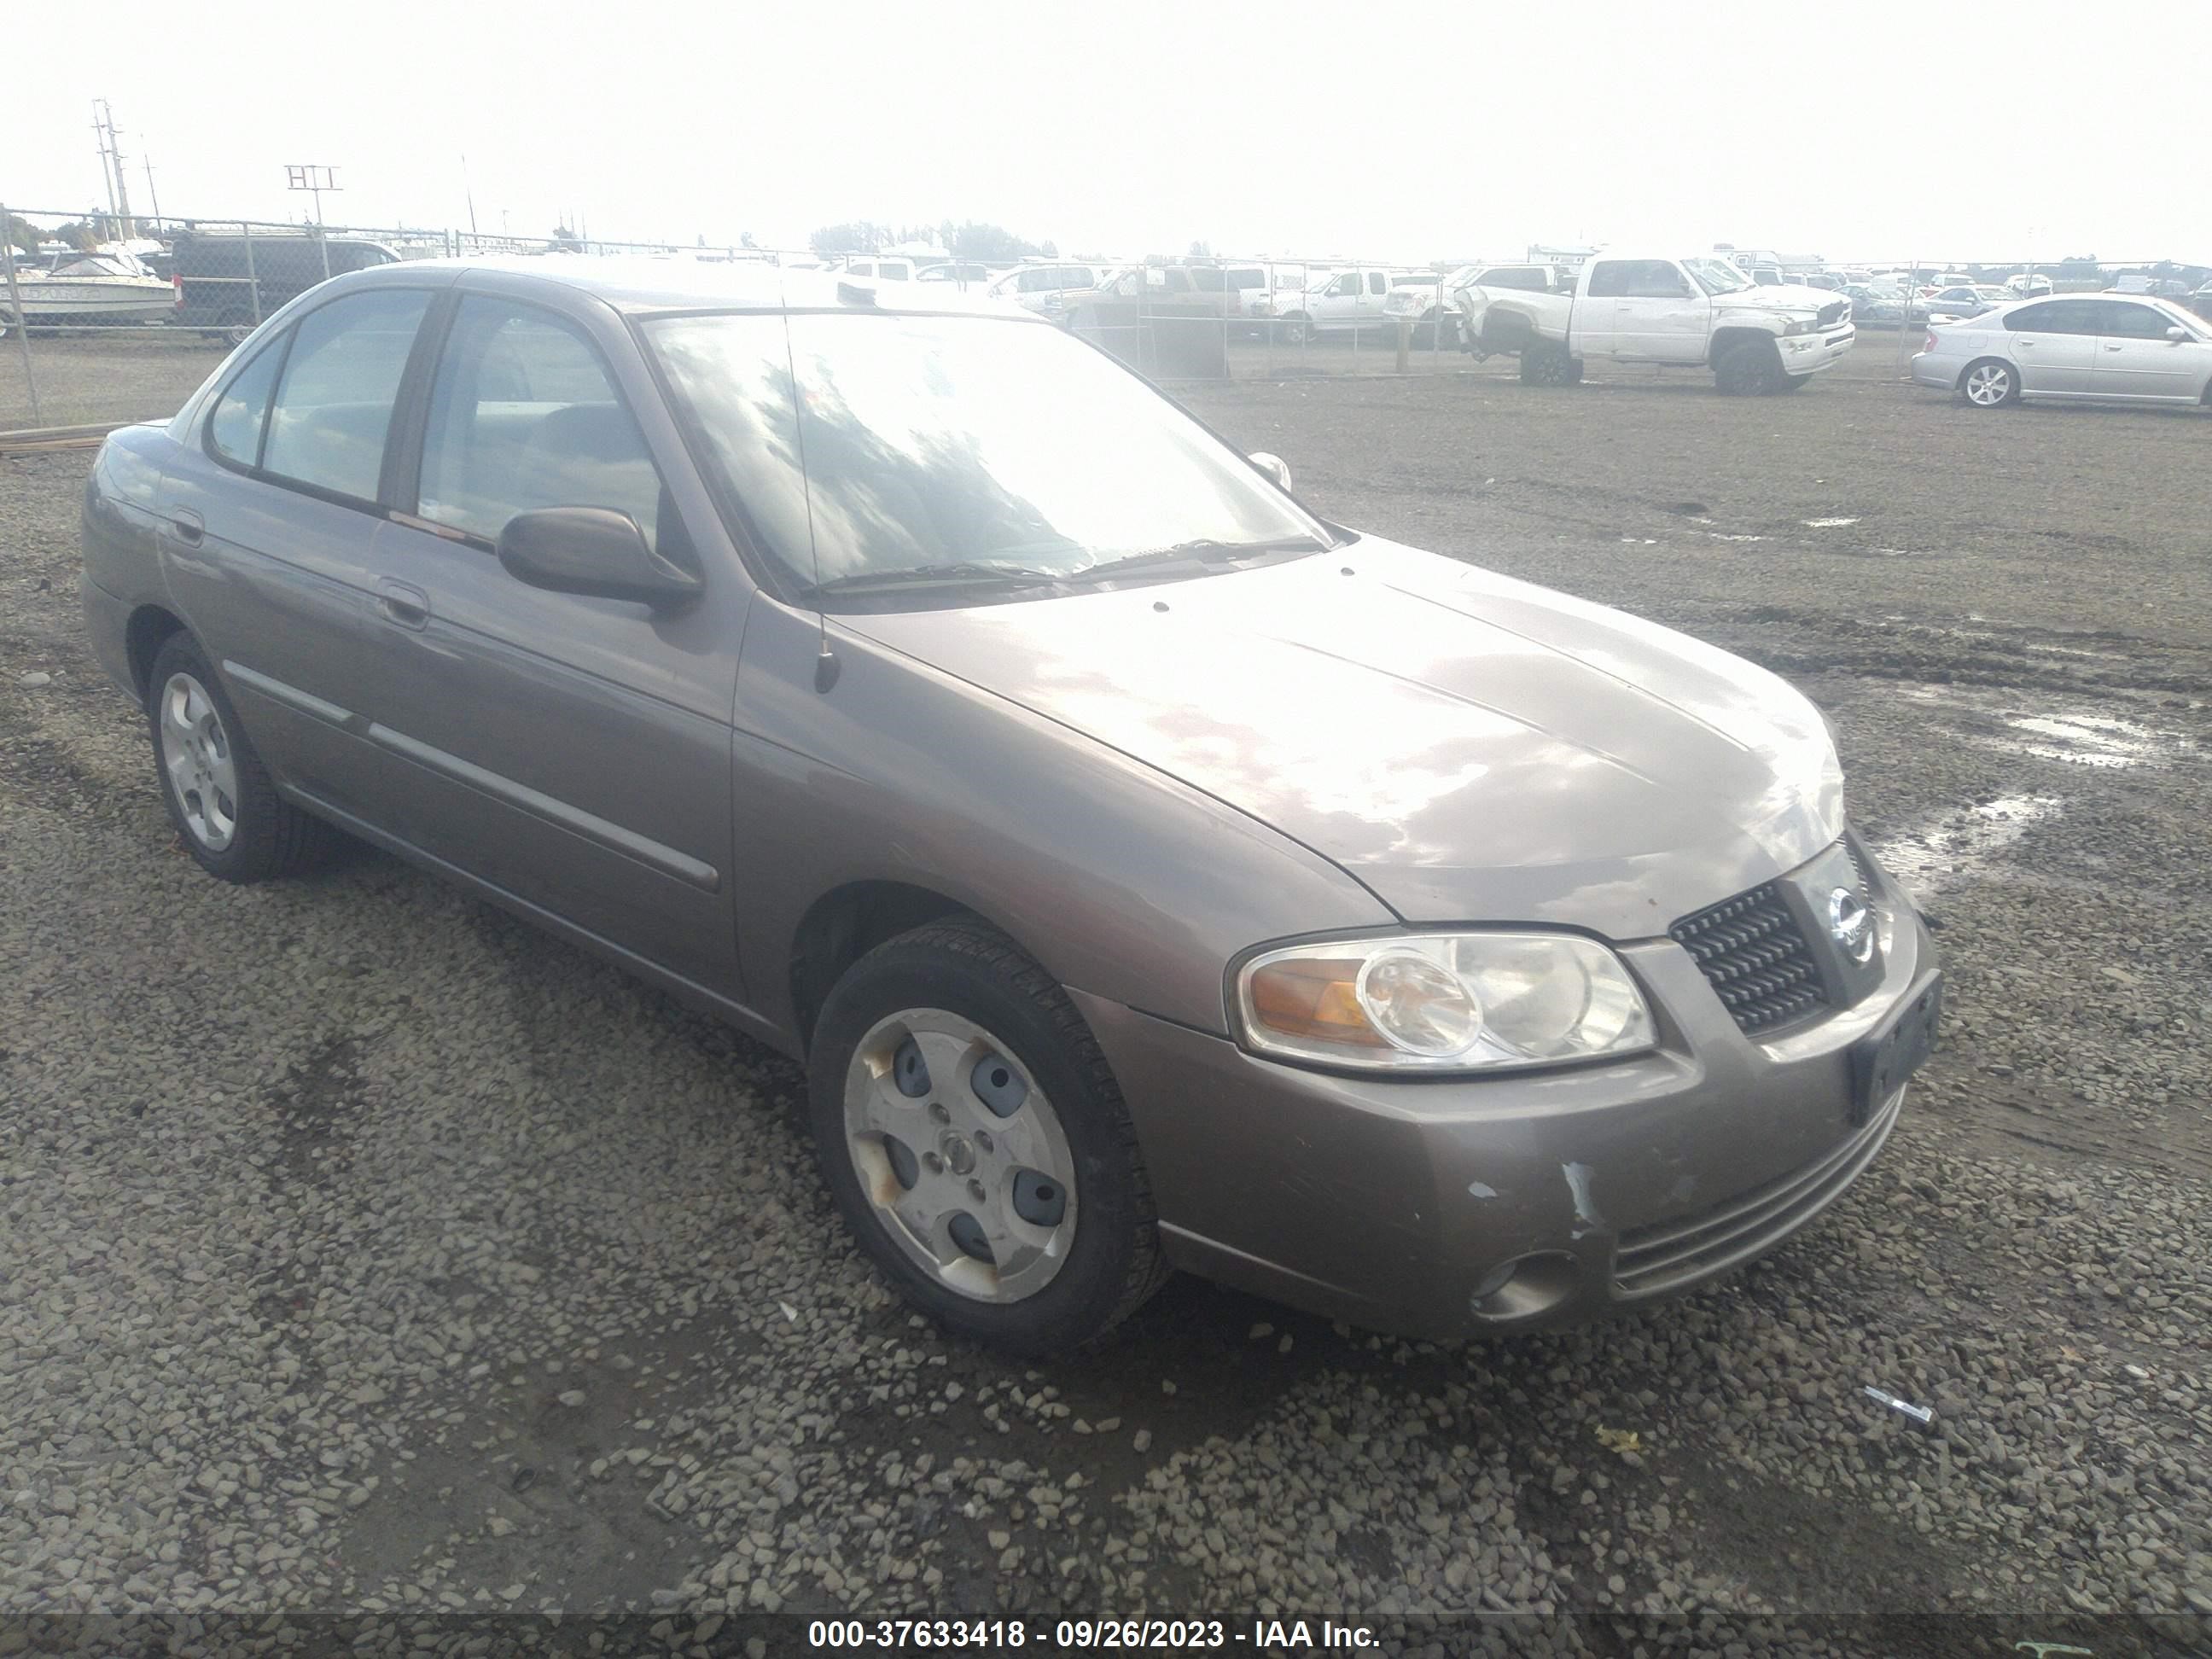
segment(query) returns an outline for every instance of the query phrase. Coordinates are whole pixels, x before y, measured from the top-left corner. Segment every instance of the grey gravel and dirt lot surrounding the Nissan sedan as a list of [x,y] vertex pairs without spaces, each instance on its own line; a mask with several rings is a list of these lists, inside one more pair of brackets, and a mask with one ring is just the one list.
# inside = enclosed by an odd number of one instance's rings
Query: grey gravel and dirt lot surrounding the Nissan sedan
[[86,458],[0,462],[0,1613],[2212,1615],[2212,418],[1893,369],[1186,394],[1347,524],[1798,679],[1942,922],[1947,1048],[1827,1219],[1458,1349],[1197,1283],[1068,1365],[909,1321],[785,1062],[378,856],[199,876],[80,644]]

